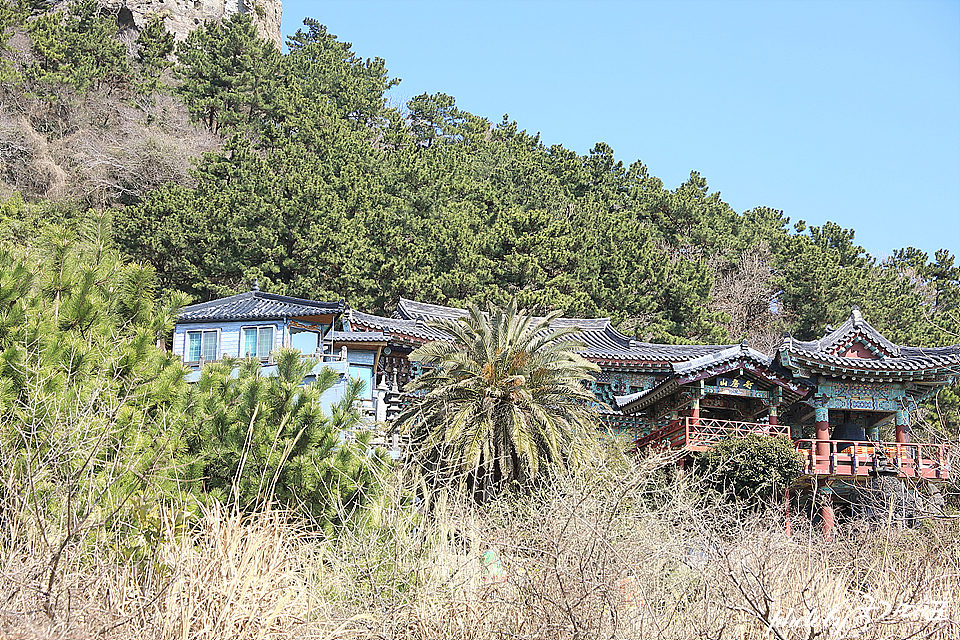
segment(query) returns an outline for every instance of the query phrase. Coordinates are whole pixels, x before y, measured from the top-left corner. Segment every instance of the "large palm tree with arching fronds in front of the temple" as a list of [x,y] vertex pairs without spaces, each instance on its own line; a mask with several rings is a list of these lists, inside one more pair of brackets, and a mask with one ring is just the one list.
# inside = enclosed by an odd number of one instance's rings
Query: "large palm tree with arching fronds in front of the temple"
[[410,354],[426,369],[407,387],[414,400],[397,428],[410,433],[412,459],[430,484],[482,503],[582,458],[596,434],[585,383],[599,369],[576,353],[576,327],[550,328],[559,315],[531,318],[513,300],[429,323],[452,340]]

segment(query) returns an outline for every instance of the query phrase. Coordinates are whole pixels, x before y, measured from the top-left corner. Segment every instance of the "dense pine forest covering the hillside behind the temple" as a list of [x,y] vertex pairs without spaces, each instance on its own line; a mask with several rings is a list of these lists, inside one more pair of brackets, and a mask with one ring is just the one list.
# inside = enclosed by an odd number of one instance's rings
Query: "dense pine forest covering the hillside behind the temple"
[[121,33],[92,1],[65,20],[3,11],[7,197],[109,211],[165,290],[259,278],[370,312],[517,296],[648,340],[766,348],[859,304],[896,342],[955,341],[949,251],[877,261],[852,229],[736,212],[696,172],[669,188],[604,143],[548,147],[443,93],[391,105],[386,62],[318,22],[281,54],[241,15],[175,46],[159,20]]

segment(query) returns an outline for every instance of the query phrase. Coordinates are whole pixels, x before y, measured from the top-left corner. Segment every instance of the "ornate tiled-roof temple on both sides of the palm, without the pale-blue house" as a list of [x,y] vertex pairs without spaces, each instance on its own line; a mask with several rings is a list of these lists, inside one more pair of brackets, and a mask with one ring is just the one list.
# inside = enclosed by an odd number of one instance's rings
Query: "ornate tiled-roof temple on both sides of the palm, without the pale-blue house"
[[[465,314],[401,299],[392,318],[348,309],[344,326],[384,336],[379,370],[397,389],[419,373],[407,357],[413,349],[449,339],[428,323]],[[882,505],[869,496],[881,485],[887,493],[895,486],[904,502],[899,512],[907,514],[907,497],[950,478],[955,452],[946,444],[911,441],[911,424],[918,403],[960,375],[960,345],[893,344],[856,307],[820,340],[788,336],[773,356],[746,343],[640,342],[608,318],[558,319],[553,326],[581,329],[580,353],[600,367],[592,387],[598,404],[609,407],[602,421],[638,450],[676,450],[682,464],[728,438],[790,437],[803,456],[791,490],[819,501],[827,532],[835,496],[846,507],[860,505],[861,514],[884,512],[889,496]]]

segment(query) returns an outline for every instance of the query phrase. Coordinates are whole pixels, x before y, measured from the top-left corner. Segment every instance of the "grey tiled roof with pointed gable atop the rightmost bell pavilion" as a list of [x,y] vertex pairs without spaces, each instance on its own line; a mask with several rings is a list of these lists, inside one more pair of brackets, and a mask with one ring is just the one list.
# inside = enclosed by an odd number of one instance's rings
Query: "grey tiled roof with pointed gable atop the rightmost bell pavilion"
[[[844,355],[860,345],[873,357]],[[787,337],[777,354],[786,367],[802,373],[820,373],[866,381],[933,381],[960,374],[960,345],[907,347],[887,340],[853,308],[840,327],[820,340]]]

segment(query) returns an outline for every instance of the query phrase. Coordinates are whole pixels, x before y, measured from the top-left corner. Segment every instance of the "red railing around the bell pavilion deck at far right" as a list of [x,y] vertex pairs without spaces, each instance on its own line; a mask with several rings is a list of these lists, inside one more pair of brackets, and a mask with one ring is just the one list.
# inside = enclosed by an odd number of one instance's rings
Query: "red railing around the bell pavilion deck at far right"
[[945,444],[797,440],[808,475],[868,476],[891,473],[908,478],[950,478],[953,447]]

